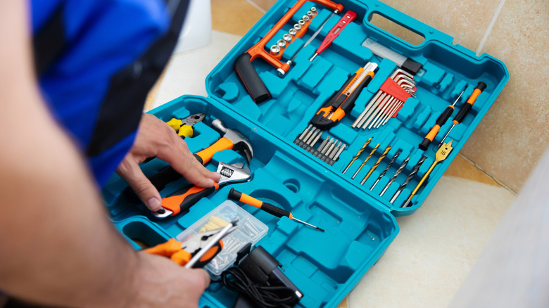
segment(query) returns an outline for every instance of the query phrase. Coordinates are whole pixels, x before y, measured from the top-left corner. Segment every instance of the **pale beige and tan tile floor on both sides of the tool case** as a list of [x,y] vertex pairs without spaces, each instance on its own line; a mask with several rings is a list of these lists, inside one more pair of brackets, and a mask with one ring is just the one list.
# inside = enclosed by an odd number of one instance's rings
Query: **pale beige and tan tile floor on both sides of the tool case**
[[[208,72],[262,15],[244,0],[212,0],[212,41],[172,57],[147,108],[184,94],[207,96]],[[445,307],[514,199],[458,155],[424,205],[397,218],[396,240],[338,307]]]

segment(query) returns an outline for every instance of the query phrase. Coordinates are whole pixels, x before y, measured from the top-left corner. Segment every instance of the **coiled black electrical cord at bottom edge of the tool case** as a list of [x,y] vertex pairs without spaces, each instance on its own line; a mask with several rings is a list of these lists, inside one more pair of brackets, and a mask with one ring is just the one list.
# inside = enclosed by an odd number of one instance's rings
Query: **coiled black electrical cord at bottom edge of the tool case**
[[285,286],[269,286],[253,283],[246,273],[238,267],[231,267],[221,274],[221,282],[229,290],[244,293],[260,307],[281,307],[284,304],[293,306],[299,300],[291,288]]

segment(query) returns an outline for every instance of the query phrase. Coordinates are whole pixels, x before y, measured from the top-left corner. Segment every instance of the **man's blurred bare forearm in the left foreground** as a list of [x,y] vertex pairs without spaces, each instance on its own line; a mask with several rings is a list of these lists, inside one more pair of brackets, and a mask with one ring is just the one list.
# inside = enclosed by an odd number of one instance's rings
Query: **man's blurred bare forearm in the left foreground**
[[9,42],[0,50],[0,290],[45,304],[121,306],[139,257],[38,94],[25,4],[0,1],[0,39]]

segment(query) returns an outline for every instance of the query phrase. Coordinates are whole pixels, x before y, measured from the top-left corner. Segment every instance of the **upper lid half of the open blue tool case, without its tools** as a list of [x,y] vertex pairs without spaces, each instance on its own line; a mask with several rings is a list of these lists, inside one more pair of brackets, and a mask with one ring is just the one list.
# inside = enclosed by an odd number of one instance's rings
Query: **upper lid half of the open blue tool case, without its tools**
[[[289,23],[286,23],[282,30],[265,44],[265,50],[268,52],[270,46],[277,44],[277,40],[282,38],[291,25],[297,23],[311,6],[317,8],[319,13],[310,22],[308,31],[301,39],[291,42],[282,55],[281,61],[285,63],[299,51],[294,60],[294,65],[284,76],[281,76],[276,68],[261,58],[257,58],[252,62],[255,71],[258,72],[260,79],[263,80],[270,91],[270,99],[261,103],[255,103],[251,99],[234,70],[234,61],[253,44],[262,39],[282,15],[296,4],[296,1],[278,1],[234,46],[232,51],[208,75],[206,79],[208,94],[212,98],[229,105],[230,108],[241,113],[243,117],[251,120],[259,127],[264,127],[273,136],[288,143],[288,146],[298,149],[305,156],[308,156],[311,161],[319,163],[321,165],[319,168],[327,169],[327,172],[332,174],[333,177],[339,177],[342,181],[347,181],[350,185],[360,188],[362,193],[374,197],[377,203],[389,207],[395,216],[412,214],[422,205],[438,179],[477,127],[481,118],[484,117],[492,103],[496,101],[497,96],[509,79],[509,72],[505,65],[493,56],[486,53],[476,56],[473,51],[460,45],[454,45],[453,38],[448,34],[425,25],[377,0],[336,1],[337,4],[343,4],[343,11],[332,16],[324,25],[318,37],[311,44],[301,49],[305,41],[317,31],[332,13],[331,10],[315,2],[305,2]],[[320,46],[322,39],[332,30],[332,27],[336,25],[343,13],[348,10],[357,13],[355,20],[341,30],[339,37],[333,41],[332,46],[329,46],[311,62],[309,59],[315,54],[315,50]],[[424,41],[419,45],[412,45],[380,29],[370,23],[370,19],[374,14],[381,15],[421,35],[424,37]],[[369,48],[362,46],[366,39],[381,44],[391,49],[393,53],[411,58],[422,65],[422,68],[414,76],[415,86],[417,87],[416,97],[408,98],[398,111],[398,115],[377,129],[352,128],[351,124],[365,108],[365,105],[377,94],[380,86],[398,67],[393,61],[376,56]],[[313,115],[317,113],[322,105],[343,86],[346,79],[368,62],[377,63],[378,65],[374,78],[358,96],[351,113],[343,117],[339,124],[336,124],[329,131],[324,131],[320,139],[322,141],[326,136],[332,136],[347,145],[339,160],[333,166],[329,166],[320,162],[318,158],[315,158],[315,155],[294,144],[294,140],[308,127]],[[427,181],[419,189],[415,198],[412,199],[412,204],[400,208],[434,162],[438,143],[452,126],[453,117],[457,115],[462,105],[465,105],[465,101],[471,96],[478,82],[486,83],[487,87],[478,96],[465,120],[456,125],[446,138],[445,142],[453,141],[453,150],[451,150],[450,155],[446,160],[436,165]],[[436,139],[432,141],[427,151],[420,150],[418,144],[422,142],[429,129],[434,127],[438,116],[448,105],[455,101],[455,98],[459,96],[463,89],[465,89],[465,92],[462,94],[460,101],[457,101],[452,117],[441,127]],[[353,163],[348,172],[342,174],[351,158],[358,153],[370,137],[372,137],[370,145],[365,148],[360,158]],[[357,177],[354,180],[351,179],[362,160],[367,157],[370,150],[377,143],[379,143],[377,152],[362,167]],[[374,165],[387,146],[392,148],[387,153],[386,158],[380,162],[379,167],[365,184],[360,185],[361,179],[367,174],[370,167]],[[396,162],[386,172],[387,176],[380,180],[373,191],[370,191],[374,181],[398,150],[401,153]],[[395,202],[390,203],[389,200],[393,194],[423,155],[427,155],[427,159],[422,163],[414,179],[400,193]],[[384,197],[379,197],[379,193],[387,184],[391,175],[395,173],[406,158],[410,158],[408,165],[388,188]],[[307,159],[303,158],[303,160]],[[310,163],[313,164],[313,162]]]

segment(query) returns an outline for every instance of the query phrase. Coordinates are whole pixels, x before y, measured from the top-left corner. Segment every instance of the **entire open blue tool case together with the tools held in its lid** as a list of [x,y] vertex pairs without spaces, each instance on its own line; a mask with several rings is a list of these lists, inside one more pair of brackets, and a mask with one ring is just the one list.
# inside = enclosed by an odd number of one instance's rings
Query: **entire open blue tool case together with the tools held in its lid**
[[[373,14],[424,41],[412,45],[372,25]],[[182,96],[152,110],[166,122],[205,114],[185,139],[194,153],[227,137],[213,125],[223,122],[253,153],[246,158],[235,143],[205,166],[246,165],[251,177],[163,219],[130,204],[117,176],[103,195],[122,234],[148,245],[188,229],[231,189],[281,207],[286,214],[273,216],[237,202],[267,226],[255,245],[301,290],[297,306],[336,307],[396,237],[395,217],[421,207],[508,79],[500,60],[380,1],[278,1],[210,72],[207,98]],[[165,165],[153,159],[141,168],[151,176]],[[186,185],[177,179],[160,194]],[[201,307],[232,307],[235,298],[214,283]]]

